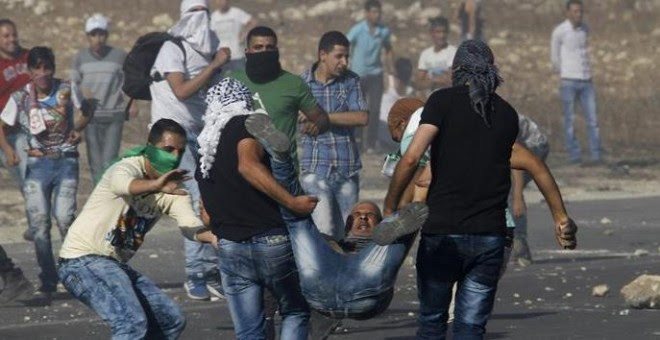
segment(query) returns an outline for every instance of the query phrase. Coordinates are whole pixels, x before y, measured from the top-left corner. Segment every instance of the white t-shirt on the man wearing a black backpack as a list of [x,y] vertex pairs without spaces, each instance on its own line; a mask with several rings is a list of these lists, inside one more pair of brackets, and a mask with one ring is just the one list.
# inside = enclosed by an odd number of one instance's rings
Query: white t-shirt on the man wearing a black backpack
[[[164,78],[166,73],[181,72],[184,74],[185,80],[189,80],[209,65],[210,60],[195,51],[187,42],[182,41],[182,43],[186,50],[185,58],[183,51],[175,43],[167,41],[163,44],[154,66],[151,68],[152,75],[158,72]],[[200,89],[185,101],[176,98],[167,80],[155,81],[149,86],[149,89],[151,91],[152,124],[159,119],[169,118],[194,134],[202,131],[204,125],[202,116],[206,111],[204,102],[206,88]]]

